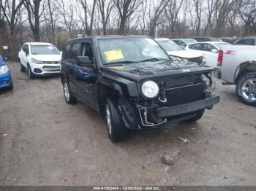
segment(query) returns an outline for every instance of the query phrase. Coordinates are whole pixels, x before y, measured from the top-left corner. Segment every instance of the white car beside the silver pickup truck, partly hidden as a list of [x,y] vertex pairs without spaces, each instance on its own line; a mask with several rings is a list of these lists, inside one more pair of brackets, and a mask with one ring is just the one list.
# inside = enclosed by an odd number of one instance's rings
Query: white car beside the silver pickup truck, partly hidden
[[186,50],[194,50],[203,54],[206,58],[206,65],[217,68],[217,58],[219,50],[226,45],[227,42],[197,42],[189,44]]

